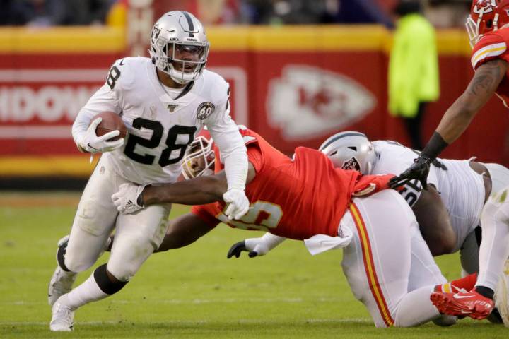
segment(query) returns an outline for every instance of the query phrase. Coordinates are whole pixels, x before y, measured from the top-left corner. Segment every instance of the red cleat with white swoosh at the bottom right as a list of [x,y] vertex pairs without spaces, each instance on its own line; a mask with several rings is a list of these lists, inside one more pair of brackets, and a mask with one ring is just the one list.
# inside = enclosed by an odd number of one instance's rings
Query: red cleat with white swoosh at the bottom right
[[440,313],[450,316],[469,316],[481,320],[493,310],[493,300],[474,290],[460,293],[433,292],[430,299]]

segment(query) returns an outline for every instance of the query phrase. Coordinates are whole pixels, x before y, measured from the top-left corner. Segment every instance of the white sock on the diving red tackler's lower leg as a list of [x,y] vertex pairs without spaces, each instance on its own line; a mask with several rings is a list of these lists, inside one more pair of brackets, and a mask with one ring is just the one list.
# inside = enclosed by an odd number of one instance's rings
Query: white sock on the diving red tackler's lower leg
[[416,326],[440,316],[440,312],[430,300],[433,288],[433,286],[425,286],[407,293],[399,302],[396,316],[394,316],[394,326]]

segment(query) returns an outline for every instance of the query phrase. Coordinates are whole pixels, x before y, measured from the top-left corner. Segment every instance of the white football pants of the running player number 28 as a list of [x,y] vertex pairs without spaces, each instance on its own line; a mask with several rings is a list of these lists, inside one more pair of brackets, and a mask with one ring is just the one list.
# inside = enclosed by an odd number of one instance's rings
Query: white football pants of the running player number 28
[[107,270],[120,281],[128,281],[163,242],[171,205],[119,214],[111,196],[125,182],[101,157],[83,191],[69,236],[65,265],[72,272],[87,270],[95,263],[114,228]]

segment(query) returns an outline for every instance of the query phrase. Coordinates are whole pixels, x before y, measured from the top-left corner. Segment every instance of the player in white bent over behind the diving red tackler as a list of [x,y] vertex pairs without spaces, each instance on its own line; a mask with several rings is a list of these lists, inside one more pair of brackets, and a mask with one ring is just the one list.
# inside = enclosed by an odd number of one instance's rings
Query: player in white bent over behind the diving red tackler
[[[320,150],[337,167],[357,169],[363,174],[400,174],[419,154],[395,141],[370,142],[356,131],[334,134]],[[430,168],[428,182],[431,187],[423,190],[421,182],[412,180],[400,193],[414,210],[431,253],[438,256],[461,250],[463,269],[467,273],[478,272],[476,237],[480,233],[476,227],[481,210],[491,191],[509,184],[509,169],[498,164],[439,159]],[[432,207],[431,199],[443,203]]]

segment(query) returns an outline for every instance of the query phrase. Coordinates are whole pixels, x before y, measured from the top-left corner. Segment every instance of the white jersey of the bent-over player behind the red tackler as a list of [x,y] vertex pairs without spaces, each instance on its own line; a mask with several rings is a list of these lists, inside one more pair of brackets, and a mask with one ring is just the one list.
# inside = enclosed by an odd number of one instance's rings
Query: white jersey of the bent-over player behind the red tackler
[[[374,141],[377,160],[371,174],[402,174],[414,163],[418,152],[395,141]],[[467,235],[479,225],[484,206],[484,181],[470,168],[468,160],[443,160],[447,169],[431,165],[428,184],[433,184],[447,208],[452,228],[457,234],[455,251]],[[421,196],[422,185],[417,179],[404,186],[401,194],[410,206]]]

